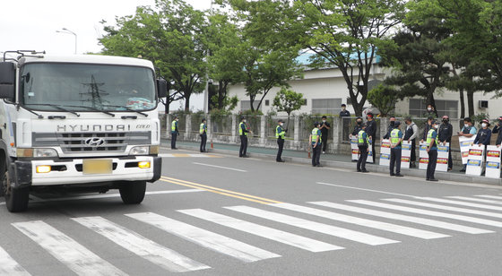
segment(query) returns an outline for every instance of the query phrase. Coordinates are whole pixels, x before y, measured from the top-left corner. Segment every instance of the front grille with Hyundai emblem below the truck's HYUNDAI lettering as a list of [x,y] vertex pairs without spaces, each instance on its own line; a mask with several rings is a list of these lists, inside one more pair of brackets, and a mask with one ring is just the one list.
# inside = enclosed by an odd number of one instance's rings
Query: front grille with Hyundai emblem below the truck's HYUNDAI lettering
[[[150,144],[151,132],[124,133],[34,133],[33,147],[59,146],[65,153],[125,151],[129,144]],[[91,142],[94,142],[92,143]]]

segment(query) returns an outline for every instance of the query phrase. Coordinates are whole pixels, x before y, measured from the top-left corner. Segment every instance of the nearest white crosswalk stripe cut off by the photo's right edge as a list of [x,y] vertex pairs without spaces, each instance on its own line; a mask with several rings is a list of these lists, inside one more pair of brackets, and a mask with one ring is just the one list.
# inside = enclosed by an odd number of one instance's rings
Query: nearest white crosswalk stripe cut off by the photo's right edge
[[463,220],[463,221],[474,222],[474,223],[479,223],[479,224],[484,224],[484,225],[489,225],[489,226],[502,227],[502,222],[500,222],[500,221],[478,219],[478,218],[474,218],[474,217],[455,215],[452,213],[447,213],[447,212],[442,212],[442,211],[428,211],[428,210],[423,210],[423,209],[405,207],[405,206],[401,206],[401,205],[393,205],[393,204],[387,204],[387,203],[376,203],[376,202],[370,202],[370,201],[365,201],[365,200],[350,200],[347,202],[359,203],[359,204],[369,205],[369,206],[373,206],[373,207],[380,207],[380,208],[392,209],[392,210],[397,210],[397,211],[408,211],[408,212],[413,212],[413,213],[420,213],[422,215],[428,215],[428,216],[433,216],[433,217],[440,217],[440,218],[446,218],[446,219],[452,219],[452,220]]

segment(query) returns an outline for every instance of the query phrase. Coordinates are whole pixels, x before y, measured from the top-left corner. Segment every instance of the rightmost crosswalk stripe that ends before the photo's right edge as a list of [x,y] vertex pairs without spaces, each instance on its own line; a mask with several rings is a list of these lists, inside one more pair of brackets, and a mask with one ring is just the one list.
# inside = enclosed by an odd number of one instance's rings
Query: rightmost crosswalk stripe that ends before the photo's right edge
[[333,209],[340,209],[340,210],[344,210],[344,211],[358,212],[358,213],[381,217],[381,218],[385,218],[385,219],[408,221],[408,222],[412,222],[412,223],[418,223],[418,224],[422,224],[422,225],[432,226],[432,227],[439,228],[439,229],[448,229],[448,230],[469,233],[469,234],[493,233],[493,231],[486,230],[486,229],[477,229],[477,228],[473,228],[473,227],[469,227],[469,226],[463,226],[463,225],[444,222],[444,221],[440,221],[440,220],[423,219],[423,218],[412,217],[412,216],[397,214],[397,213],[388,212],[388,211],[376,211],[376,210],[372,210],[372,209],[360,208],[360,207],[339,204],[339,203],[312,202],[312,204],[325,206],[325,207],[329,207],[329,208],[333,208]]

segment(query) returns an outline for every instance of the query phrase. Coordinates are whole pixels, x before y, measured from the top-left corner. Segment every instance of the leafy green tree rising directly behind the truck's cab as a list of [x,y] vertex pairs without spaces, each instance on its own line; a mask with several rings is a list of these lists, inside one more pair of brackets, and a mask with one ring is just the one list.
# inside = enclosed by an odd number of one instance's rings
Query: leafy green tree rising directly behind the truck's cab
[[[206,72],[206,46],[203,12],[181,0],[159,0],[155,8],[143,6],[134,15],[119,17],[117,26],[106,25],[100,39],[103,54],[143,56],[160,69],[160,75],[171,81],[171,89],[185,99],[203,91]],[[169,100],[168,100],[169,102]]]

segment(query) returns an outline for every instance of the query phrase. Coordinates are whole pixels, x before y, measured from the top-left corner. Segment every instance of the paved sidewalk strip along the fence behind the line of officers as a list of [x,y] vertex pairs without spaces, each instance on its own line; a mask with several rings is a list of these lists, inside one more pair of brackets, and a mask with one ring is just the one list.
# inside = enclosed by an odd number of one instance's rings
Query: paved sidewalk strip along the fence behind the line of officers
[[[170,148],[170,140],[162,139],[161,144],[164,147]],[[185,149],[190,151],[199,151],[199,142],[186,142],[178,141],[178,149]],[[240,144],[223,144],[223,143],[213,143],[213,149],[211,149],[211,143],[207,143],[207,150],[215,153],[223,153],[229,155],[238,156],[238,151]],[[294,162],[301,164],[311,164],[311,160],[308,158],[307,151],[282,151],[282,160],[286,162]],[[262,158],[268,160],[275,160],[277,155],[277,149],[261,148],[261,147],[247,147],[247,155],[253,158]],[[367,164],[366,167],[369,171],[379,172],[379,173],[389,173],[389,168],[376,164]],[[341,154],[330,154],[325,153],[321,155],[321,165],[325,167],[332,168],[347,168],[356,170],[355,162],[351,161],[350,155]],[[488,177],[472,177],[467,176],[464,173],[459,172],[460,168],[455,168],[450,172],[436,172],[436,178],[439,180],[447,180],[454,182],[463,183],[479,183],[479,184],[489,184],[489,185],[502,185],[502,179],[498,178],[488,178]],[[402,168],[402,174],[411,177],[423,177],[425,178],[425,170],[418,168]]]

